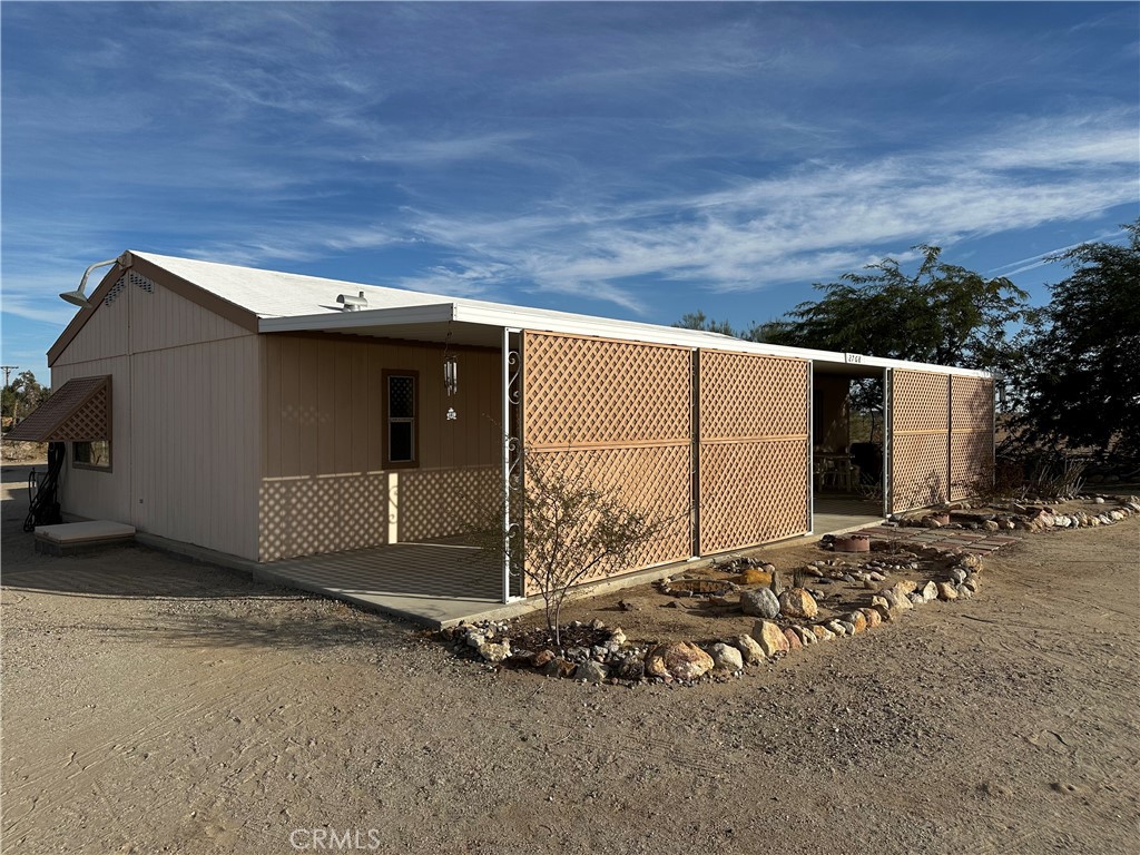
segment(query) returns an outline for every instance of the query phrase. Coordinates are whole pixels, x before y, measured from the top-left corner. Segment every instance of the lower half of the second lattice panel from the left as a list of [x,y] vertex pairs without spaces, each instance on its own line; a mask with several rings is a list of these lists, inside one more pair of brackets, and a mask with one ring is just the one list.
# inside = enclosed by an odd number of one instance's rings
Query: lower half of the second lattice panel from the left
[[807,532],[807,439],[701,445],[700,552]]

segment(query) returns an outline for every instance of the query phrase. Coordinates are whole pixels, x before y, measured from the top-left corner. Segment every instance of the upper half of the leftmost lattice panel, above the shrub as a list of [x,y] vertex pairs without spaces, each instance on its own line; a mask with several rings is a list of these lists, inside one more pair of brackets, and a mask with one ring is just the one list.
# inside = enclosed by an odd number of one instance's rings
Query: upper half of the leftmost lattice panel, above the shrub
[[684,348],[524,333],[528,448],[687,441],[691,394]]

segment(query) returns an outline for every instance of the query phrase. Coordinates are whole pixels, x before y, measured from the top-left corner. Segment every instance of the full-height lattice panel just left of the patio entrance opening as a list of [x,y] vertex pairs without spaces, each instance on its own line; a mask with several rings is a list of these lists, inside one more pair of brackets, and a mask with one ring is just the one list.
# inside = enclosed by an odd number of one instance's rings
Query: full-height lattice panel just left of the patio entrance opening
[[806,534],[809,364],[700,353],[700,553]]

